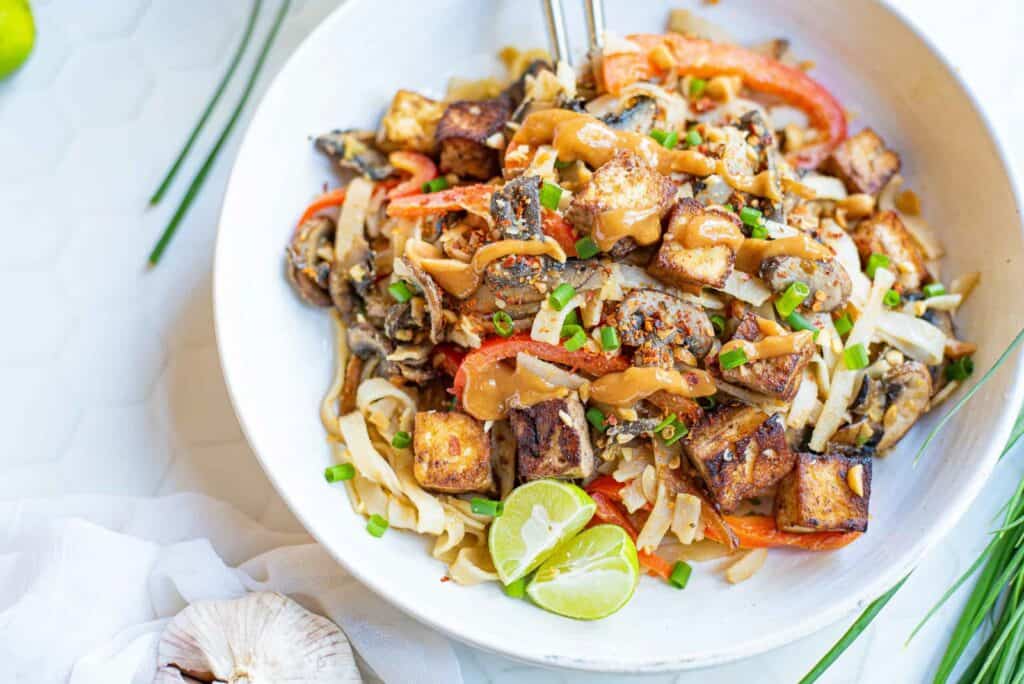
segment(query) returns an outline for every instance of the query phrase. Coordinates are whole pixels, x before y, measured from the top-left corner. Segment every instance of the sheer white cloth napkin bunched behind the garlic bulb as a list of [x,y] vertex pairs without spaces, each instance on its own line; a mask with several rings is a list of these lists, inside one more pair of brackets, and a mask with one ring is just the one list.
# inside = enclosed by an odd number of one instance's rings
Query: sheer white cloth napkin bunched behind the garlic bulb
[[337,623],[368,681],[463,681],[446,639],[373,595],[309,537],[190,494],[0,504],[0,681],[150,684],[171,616],[262,590]]

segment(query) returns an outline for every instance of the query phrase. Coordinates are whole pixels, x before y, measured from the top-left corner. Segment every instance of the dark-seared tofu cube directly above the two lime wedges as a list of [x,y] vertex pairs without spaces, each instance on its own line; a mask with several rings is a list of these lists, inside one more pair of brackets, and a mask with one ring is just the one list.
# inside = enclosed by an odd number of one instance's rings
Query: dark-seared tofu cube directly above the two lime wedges
[[590,429],[575,394],[515,409],[509,421],[518,444],[516,472],[521,481],[577,479],[594,471]]

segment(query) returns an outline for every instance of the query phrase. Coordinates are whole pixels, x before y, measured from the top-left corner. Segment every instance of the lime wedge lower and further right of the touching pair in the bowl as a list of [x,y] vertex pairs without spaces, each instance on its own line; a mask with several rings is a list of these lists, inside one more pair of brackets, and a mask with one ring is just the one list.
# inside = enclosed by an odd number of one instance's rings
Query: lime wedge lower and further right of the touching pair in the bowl
[[615,612],[640,581],[637,548],[618,525],[596,525],[560,546],[526,593],[542,608],[578,619]]

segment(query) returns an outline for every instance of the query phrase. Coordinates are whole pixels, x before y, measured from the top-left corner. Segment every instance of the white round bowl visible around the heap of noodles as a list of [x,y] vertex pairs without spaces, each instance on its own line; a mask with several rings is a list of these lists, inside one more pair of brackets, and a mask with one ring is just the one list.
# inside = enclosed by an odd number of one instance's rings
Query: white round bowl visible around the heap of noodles
[[[583,27],[577,3],[565,4],[572,26]],[[608,0],[608,26],[658,32],[670,4]],[[340,563],[402,610],[475,646],[543,665],[653,672],[724,662],[806,635],[873,599],[942,539],[1010,432],[1024,392],[1019,353],[916,468],[911,457],[937,416],[877,462],[864,538],[838,553],[772,553],[736,587],[711,566],[682,592],[645,578],[615,615],[574,622],[511,600],[493,584],[440,582],[444,567],[422,537],[368,535],[344,489],[323,477],[329,454],[317,407],[333,372],[331,326],[324,311],[299,303],[283,274],[299,213],[333,182],[309,136],[373,127],[397,88],[439,93],[451,75],[496,67],[501,46],[546,44],[532,2],[381,7],[345,3],[278,76],[236,162],[216,254],[217,335],[239,419],[278,490]],[[979,345],[977,367],[988,368],[1024,320],[1024,242],[1002,152],[967,87],[905,22],[873,2],[731,0],[705,11],[744,41],[793,39],[796,53],[817,63],[814,76],[857,113],[853,128],[870,124],[901,153],[903,174],[948,248],[944,273],[983,273],[958,324]]]

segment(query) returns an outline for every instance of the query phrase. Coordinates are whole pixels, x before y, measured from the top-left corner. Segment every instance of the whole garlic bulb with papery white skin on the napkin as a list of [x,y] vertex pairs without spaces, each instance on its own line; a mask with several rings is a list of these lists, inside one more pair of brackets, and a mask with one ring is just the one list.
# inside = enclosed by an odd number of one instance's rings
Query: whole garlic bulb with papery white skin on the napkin
[[164,631],[157,668],[159,684],[362,681],[334,623],[271,592],[189,605]]

